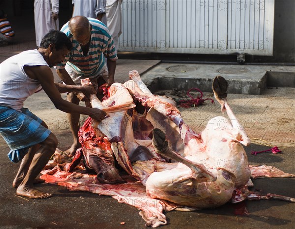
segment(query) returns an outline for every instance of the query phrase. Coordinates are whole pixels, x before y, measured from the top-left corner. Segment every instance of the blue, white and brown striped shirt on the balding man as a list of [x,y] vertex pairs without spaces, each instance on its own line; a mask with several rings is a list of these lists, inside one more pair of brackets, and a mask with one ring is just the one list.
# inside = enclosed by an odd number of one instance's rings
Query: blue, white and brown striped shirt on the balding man
[[56,66],[56,69],[63,69],[65,65],[69,65],[77,74],[94,78],[105,68],[104,57],[112,61],[117,60],[113,37],[108,28],[97,19],[88,18],[88,20],[92,25],[88,54],[86,56],[83,55],[82,48],[70,32],[67,22],[61,28],[61,31],[71,40],[73,48],[65,60]]

